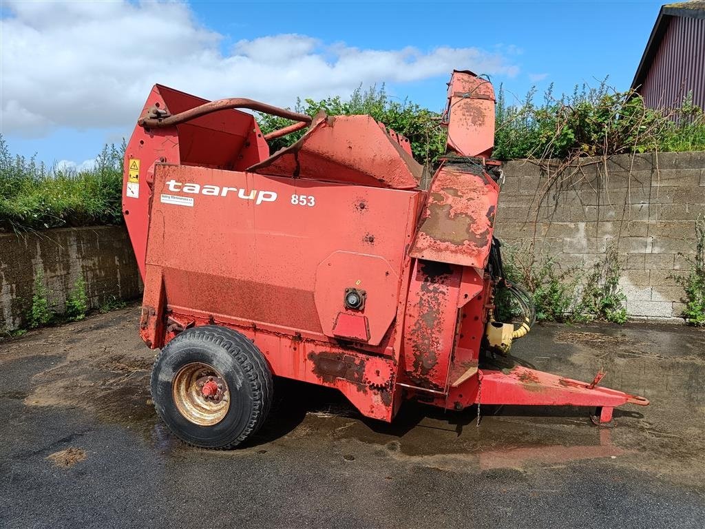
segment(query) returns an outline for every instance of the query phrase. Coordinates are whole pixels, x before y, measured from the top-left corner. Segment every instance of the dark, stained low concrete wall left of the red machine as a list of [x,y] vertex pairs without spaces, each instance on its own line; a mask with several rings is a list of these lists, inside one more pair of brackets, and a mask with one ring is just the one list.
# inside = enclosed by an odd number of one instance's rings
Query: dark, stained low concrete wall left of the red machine
[[59,313],[80,274],[91,308],[112,296],[137,298],[142,291],[124,226],[0,233],[0,331],[25,324],[37,269],[44,272],[49,303]]

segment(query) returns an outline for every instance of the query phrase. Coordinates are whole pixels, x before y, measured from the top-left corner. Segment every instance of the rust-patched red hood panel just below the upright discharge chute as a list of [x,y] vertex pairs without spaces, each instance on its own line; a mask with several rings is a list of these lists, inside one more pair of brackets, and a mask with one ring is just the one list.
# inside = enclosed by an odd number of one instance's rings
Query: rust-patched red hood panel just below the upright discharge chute
[[499,188],[481,168],[475,174],[444,165],[431,181],[426,211],[410,255],[484,268]]

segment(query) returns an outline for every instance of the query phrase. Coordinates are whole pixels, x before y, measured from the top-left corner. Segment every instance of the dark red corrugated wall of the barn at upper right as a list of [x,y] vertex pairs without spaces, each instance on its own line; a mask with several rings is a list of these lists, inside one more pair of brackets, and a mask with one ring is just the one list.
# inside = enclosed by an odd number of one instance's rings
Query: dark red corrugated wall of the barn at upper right
[[674,16],[639,92],[647,107],[664,109],[678,106],[690,90],[704,108],[705,19]]

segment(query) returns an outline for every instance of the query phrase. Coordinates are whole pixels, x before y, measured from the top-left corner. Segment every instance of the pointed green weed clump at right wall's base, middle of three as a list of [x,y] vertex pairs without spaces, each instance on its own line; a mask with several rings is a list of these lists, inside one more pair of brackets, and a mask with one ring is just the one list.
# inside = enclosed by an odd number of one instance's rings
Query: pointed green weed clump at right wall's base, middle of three
[[623,324],[627,321],[627,308],[619,279],[622,275],[617,248],[607,248],[602,260],[595,263],[582,290],[582,298],[575,308],[575,318],[579,321],[606,320]]

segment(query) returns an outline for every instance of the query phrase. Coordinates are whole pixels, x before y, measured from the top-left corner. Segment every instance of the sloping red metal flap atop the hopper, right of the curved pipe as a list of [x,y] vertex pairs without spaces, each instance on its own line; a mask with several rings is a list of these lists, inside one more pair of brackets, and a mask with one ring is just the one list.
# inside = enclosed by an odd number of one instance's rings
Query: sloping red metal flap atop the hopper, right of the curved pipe
[[423,168],[370,116],[319,114],[298,142],[248,171],[378,188],[414,189]]

